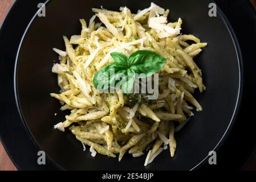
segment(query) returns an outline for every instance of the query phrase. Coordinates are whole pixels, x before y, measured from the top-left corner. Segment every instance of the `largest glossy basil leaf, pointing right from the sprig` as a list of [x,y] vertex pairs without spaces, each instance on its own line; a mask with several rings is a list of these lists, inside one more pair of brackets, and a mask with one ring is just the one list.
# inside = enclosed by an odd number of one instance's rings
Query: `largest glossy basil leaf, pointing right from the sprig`
[[139,78],[149,77],[158,72],[166,63],[166,59],[155,51],[141,50],[132,53],[128,59],[129,69],[137,74],[144,73]]

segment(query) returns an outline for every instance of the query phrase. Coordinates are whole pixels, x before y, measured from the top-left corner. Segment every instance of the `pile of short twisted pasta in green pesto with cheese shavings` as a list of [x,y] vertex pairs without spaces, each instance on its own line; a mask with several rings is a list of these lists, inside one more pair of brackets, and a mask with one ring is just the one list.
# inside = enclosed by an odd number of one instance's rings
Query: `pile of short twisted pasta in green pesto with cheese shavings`
[[[147,9],[132,14],[127,7],[120,11],[103,8],[87,24],[80,19],[82,32],[68,39],[63,36],[66,51],[54,48],[59,63],[52,72],[58,74],[60,110],[70,110],[55,129],[69,127],[83,146],[119,161],[125,153],[139,157],[147,154],[145,166],[169,148],[174,156],[178,132],[193,109],[202,107],[192,96],[205,90],[202,73],[193,58],[206,43],[193,35],[182,35],[182,20],[168,22],[169,10],[151,3]],[[159,73],[159,97],[147,100],[145,94],[101,93],[94,87],[97,71],[113,61],[111,52],[131,53],[149,49],[167,60]],[[84,148],[85,150],[85,148]]]

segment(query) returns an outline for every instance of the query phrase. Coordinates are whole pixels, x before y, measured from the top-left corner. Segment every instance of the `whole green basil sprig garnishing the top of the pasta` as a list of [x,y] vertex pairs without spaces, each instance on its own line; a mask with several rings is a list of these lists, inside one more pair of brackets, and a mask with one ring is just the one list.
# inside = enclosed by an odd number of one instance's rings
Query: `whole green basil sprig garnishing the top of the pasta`
[[135,78],[145,78],[157,73],[166,63],[166,59],[155,51],[141,50],[132,53],[129,58],[120,52],[112,52],[113,62],[100,69],[94,76],[94,86],[99,90],[115,88],[120,78],[124,93],[132,90]]

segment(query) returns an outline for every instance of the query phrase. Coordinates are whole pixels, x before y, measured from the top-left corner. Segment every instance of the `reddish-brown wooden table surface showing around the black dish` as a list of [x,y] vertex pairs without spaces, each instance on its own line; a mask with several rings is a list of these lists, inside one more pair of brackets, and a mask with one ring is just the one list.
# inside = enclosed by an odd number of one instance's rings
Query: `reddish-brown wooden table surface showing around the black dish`
[[[15,0],[0,0],[0,24],[2,24],[3,19],[6,16],[7,11]],[[256,0],[250,0],[256,9]],[[247,169],[256,170],[256,155],[254,159],[251,160]],[[0,142],[0,171],[17,171],[17,168],[11,162],[9,156],[6,154],[5,149],[3,148]]]

